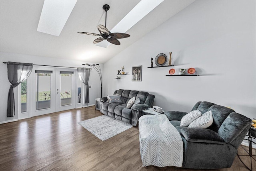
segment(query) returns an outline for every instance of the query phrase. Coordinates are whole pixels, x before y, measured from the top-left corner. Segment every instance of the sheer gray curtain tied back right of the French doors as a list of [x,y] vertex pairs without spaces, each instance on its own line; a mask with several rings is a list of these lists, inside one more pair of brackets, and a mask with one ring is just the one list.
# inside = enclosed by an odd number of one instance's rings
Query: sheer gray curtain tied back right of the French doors
[[90,68],[81,68],[78,67],[77,68],[77,72],[78,72],[78,76],[79,79],[82,83],[84,83],[84,85],[86,85],[86,91],[85,91],[85,98],[84,98],[84,103],[89,103],[90,99],[89,99],[89,86],[88,86],[88,81],[89,81],[89,77],[90,77]]

